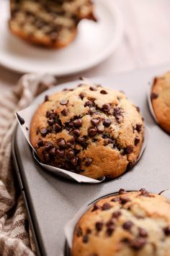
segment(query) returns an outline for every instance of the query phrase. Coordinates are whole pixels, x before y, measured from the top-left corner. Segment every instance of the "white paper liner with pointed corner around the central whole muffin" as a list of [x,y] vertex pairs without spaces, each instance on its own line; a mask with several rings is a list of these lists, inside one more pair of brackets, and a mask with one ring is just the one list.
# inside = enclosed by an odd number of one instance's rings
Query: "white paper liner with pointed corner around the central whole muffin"
[[[79,183],[89,183],[89,184],[97,184],[100,182],[103,182],[105,177],[103,177],[102,179],[91,179],[89,177],[83,176],[81,174],[75,174],[71,171],[66,171],[63,170],[61,168],[57,168],[54,166],[49,166],[46,165],[44,163],[41,163],[37,157],[37,153],[35,151],[35,149],[32,147],[31,142],[30,142],[30,124],[31,124],[31,120],[32,120],[32,116],[33,114],[35,114],[35,111],[37,110],[37,104],[29,106],[28,108],[24,108],[22,111],[18,111],[16,113],[16,117],[17,117],[17,121],[19,123],[19,127],[21,127],[22,132],[24,134],[24,137],[26,138],[27,142],[30,144],[31,148],[32,148],[32,152],[33,152],[33,156],[35,158],[35,160],[40,163],[40,165],[45,168],[46,170],[52,172],[53,174],[57,174],[58,176],[64,177],[66,179],[72,179],[76,182]],[[18,116],[22,117],[22,119],[24,119],[24,124],[20,124],[19,122],[19,118]],[[144,132],[144,140],[143,140],[143,146],[140,150],[140,155],[138,156],[137,161],[139,161],[140,157],[143,154],[143,151],[146,148],[146,145],[148,144],[148,138],[149,138],[149,128],[145,127],[145,132]]]

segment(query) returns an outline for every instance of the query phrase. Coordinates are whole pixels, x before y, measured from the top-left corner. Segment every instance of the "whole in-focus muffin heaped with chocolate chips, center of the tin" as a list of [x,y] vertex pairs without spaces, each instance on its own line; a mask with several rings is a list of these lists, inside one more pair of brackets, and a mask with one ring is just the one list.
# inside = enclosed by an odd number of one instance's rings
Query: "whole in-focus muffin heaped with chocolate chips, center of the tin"
[[85,84],[45,97],[30,140],[42,163],[98,179],[132,167],[143,144],[143,119],[125,95]]

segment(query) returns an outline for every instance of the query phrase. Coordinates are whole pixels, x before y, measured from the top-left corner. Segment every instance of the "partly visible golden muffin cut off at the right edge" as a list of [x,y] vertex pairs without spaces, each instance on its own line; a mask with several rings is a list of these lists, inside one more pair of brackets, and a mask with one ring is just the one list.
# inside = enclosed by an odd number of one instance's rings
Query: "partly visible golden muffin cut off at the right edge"
[[170,134],[170,72],[153,81],[151,101],[158,124]]

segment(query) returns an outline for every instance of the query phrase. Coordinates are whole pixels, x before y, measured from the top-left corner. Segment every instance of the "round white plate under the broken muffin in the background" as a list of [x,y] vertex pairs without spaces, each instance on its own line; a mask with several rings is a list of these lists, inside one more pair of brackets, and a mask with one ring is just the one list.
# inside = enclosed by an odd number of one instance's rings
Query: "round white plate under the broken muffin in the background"
[[112,0],[96,0],[99,22],[83,20],[76,39],[66,48],[31,46],[9,32],[8,1],[0,1],[0,64],[17,72],[48,72],[58,77],[81,72],[106,59],[120,43],[122,16]]

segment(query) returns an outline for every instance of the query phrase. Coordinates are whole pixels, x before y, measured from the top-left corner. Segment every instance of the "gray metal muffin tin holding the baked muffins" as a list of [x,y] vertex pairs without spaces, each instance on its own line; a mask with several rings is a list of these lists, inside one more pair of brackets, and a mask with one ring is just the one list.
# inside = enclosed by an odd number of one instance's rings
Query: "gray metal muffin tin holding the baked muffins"
[[[13,158],[22,189],[27,214],[35,236],[37,255],[63,256],[68,254],[63,226],[84,205],[99,197],[117,192],[120,188],[161,192],[170,187],[170,137],[153,120],[146,91],[148,82],[168,71],[170,66],[140,70],[109,77],[96,77],[91,82],[123,90],[145,118],[151,129],[150,138],[137,165],[120,178],[102,184],[78,184],[45,171],[33,158],[19,126],[13,137]],[[63,88],[73,88],[80,82],[68,82],[39,95],[32,103],[41,103],[45,95]]]

